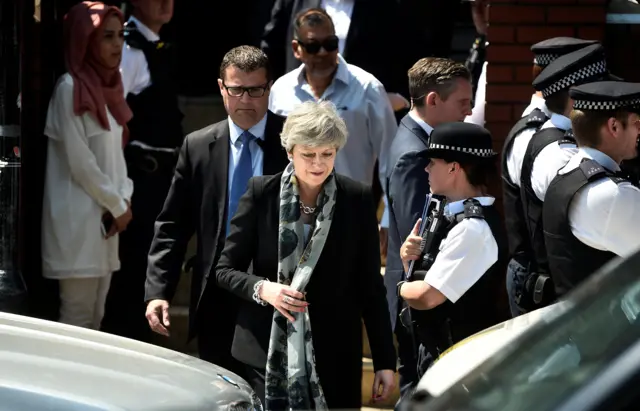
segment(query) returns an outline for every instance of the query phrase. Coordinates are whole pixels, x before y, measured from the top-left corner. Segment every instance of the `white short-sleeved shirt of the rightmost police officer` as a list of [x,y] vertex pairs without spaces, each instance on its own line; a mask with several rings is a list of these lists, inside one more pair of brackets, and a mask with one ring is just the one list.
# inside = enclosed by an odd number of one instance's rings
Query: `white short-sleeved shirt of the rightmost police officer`
[[[593,148],[581,147],[559,171],[566,174],[583,158],[616,172],[619,165]],[[640,190],[631,183],[602,178],[582,187],[569,205],[569,225],[574,236],[589,247],[628,257],[640,248]]]

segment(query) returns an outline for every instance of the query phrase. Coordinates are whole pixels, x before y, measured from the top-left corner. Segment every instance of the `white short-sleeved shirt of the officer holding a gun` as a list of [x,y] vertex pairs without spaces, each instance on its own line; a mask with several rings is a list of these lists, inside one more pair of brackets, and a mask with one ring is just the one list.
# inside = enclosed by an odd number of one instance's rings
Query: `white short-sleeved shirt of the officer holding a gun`
[[[476,197],[476,200],[484,206],[495,201],[493,197]],[[463,201],[445,207],[445,213],[451,215],[463,211]],[[440,243],[440,252],[424,281],[455,303],[496,261],[498,244],[489,224],[484,219],[465,218]]]

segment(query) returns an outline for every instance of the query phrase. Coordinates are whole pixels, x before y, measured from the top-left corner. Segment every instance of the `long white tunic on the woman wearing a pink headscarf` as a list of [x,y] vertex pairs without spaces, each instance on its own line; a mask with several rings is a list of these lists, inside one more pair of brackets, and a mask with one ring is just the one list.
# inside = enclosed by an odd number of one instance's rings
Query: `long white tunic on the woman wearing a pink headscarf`
[[102,215],[127,210],[133,182],[122,152],[122,127],[108,112],[111,131],[89,114],[73,112],[73,78],[64,74],[49,103],[47,166],[42,213],[43,276],[102,277],[120,268],[118,236],[105,239]]

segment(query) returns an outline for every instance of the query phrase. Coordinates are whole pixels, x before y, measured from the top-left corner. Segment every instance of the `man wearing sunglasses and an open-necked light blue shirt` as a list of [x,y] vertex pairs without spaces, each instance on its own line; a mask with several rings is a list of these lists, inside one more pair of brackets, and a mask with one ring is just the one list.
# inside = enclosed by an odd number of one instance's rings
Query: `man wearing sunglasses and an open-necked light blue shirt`
[[[339,54],[340,38],[323,9],[298,13],[291,47],[302,65],[274,83],[269,108],[287,116],[305,101],[334,103],[349,131],[347,144],[336,157],[335,169],[373,185],[376,160],[379,176],[386,175],[386,155],[398,129],[384,86],[373,75],[347,64]],[[384,183],[380,184],[384,187]],[[382,225],[386,226],[384,222]],[[385,236],[381,241],[386,249]]]

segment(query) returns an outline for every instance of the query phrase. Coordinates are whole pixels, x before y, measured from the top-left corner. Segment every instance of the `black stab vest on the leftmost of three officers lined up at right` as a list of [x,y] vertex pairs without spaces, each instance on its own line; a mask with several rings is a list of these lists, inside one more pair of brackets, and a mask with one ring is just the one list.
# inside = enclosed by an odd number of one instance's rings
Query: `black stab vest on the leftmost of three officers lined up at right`
[[521,118],[513,126],[507,135],[502,148],[502,202],[504,205],[507,238],[509,240],[509,254],[525,267],[527,267],[529,262],[533,260],[533,252],[531,251],[529,234],[527,232],[524,213],[522,211],[520,187],[513,184],[509,179],[507,153],[511,151],[513,141],[517,135],[527,129],[538,129],[547,120],[548,117],[542,110],[533,110],[528,116]]

